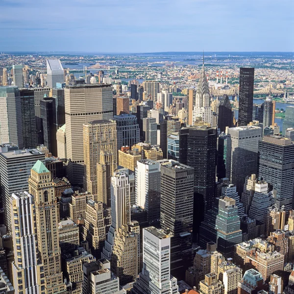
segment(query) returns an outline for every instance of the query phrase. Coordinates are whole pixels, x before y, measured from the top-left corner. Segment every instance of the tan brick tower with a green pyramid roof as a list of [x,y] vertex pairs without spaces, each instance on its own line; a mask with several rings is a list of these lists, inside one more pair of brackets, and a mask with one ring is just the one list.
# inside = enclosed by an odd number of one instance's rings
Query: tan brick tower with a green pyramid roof
[[65,292],[58,237],[58,202],[51,173],[40,160],[31,169],[28,192],[34,197],[36,205],[37,244],[43,264],[38,272],[41,294]]

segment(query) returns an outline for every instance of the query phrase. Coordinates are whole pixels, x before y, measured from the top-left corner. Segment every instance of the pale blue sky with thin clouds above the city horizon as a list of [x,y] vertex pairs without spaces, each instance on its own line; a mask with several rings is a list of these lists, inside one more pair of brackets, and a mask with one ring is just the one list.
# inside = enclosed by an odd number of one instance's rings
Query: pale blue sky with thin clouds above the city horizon
[[0,0],[0,51],[294,51],[294,0]]

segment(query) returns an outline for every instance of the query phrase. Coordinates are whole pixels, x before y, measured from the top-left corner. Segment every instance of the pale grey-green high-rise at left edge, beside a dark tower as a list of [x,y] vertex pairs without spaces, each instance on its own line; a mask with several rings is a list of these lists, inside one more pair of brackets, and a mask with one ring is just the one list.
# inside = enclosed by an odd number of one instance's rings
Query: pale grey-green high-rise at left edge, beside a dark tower
[[16,86],[0,87],[0,144],[5,143],[23,148],[21,98]]

